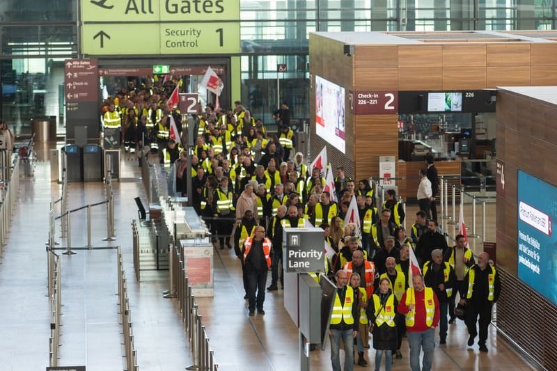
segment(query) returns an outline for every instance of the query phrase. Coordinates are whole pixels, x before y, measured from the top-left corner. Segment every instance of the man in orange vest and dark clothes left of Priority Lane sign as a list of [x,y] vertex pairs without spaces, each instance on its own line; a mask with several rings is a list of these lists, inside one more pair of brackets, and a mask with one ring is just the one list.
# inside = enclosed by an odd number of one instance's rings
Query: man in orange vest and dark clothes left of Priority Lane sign
[[[267,271],[271,267],[271,240],[265,238],[265,228],[256,226],[253,237],[244,241],[244,269],[248,275],[248,308],[249,315],[257,311],[264,315],[263,301],[265,301],[265,285]],[[257,299],[256,299],[257,292]]]

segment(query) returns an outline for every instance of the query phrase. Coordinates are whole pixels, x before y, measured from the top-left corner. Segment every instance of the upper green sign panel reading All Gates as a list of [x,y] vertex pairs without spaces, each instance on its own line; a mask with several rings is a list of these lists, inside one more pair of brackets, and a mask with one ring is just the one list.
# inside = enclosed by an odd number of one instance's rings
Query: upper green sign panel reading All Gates
[[198,22],[240,19],[240,0],[81,0],[82,22]]

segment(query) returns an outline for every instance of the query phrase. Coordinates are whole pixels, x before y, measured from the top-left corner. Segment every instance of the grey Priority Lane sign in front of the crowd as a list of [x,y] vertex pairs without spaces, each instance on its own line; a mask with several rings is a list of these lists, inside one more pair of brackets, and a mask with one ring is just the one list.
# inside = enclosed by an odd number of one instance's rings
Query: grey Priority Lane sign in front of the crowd
[[325,252],[321,228],[284,228],[283,243],[285,271],[324,271]]

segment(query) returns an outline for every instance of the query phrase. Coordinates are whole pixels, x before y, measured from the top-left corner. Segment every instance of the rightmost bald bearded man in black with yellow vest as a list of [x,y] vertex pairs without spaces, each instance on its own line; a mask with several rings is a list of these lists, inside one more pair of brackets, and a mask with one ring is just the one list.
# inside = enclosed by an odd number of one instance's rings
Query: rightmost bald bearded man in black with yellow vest
[[466,305],[466,327],[468,327],[468,346],[474,345],[474,338],[478,334],[476,322],[480,316],[480,352],[487,352],[487,327],[492,320],[493,303],[501,294],[501,280],[495,267],[489,265],[489,254],[480,253],[478,264],[473,265],[462,282],[460,304]]

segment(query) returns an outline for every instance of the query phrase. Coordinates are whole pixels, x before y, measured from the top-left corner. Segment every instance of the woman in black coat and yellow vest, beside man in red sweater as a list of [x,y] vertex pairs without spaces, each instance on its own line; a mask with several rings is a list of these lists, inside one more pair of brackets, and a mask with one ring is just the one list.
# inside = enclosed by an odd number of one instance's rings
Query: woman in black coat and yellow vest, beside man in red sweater
[[373,349],[375,349],[375,370],[381,366],[381,358],[385,354],[385,370],[391,371],[393,350],[398,340],[398,301],[389,289],[389,278],[381,278],[377,290],[368,302],[366,314],[370,321],[370,333],[373,334]]

